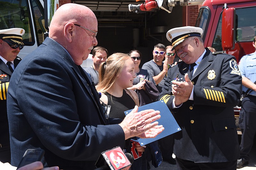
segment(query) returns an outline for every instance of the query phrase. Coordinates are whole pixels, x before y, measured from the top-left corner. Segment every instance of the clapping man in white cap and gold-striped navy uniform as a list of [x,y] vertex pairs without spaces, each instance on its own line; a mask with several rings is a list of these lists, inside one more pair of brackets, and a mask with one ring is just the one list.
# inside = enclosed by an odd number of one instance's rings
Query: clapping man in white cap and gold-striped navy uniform
[[199,27],[166,33],[182,60],[168,70],[162,93],[182,131],[174,134],[178,169],[235,170],[239,145],[234,109],[242,78],[236,58],[204,48]]

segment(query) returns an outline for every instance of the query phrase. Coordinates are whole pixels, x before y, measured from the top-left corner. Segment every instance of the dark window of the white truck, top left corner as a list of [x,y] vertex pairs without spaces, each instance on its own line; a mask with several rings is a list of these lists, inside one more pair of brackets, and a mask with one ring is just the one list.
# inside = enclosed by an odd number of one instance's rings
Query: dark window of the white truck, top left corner
[[31,30],[31,18],[28,12],[26,0],[9,1],[0,0],[0,29],[23,28],[25,34],[22,36],[25,45],[33,45]]

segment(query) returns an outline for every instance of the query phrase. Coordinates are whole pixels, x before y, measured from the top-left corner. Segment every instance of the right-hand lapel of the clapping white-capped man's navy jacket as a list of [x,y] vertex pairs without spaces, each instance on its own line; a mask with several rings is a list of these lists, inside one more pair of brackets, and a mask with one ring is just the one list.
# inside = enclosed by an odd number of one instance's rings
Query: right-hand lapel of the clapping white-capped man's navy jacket
[[193,75],[193,80],[196,76],[201,74],[207,67],[211,65],[211,61],[213,61],[212,55],[209,55],[210,50],[206,50],[203,59],[201,60],[200,64],[198,65],[195,74]]

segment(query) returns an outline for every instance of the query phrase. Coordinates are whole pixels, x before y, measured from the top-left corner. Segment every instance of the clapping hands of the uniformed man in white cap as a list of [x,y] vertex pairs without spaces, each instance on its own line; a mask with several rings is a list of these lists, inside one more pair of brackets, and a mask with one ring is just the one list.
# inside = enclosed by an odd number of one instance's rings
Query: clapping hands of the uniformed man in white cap
[[193,83],[185,74],[185,81],[172,81],[172,94],[175,96],[173,101],[175,106],[188,101],[193,90]]

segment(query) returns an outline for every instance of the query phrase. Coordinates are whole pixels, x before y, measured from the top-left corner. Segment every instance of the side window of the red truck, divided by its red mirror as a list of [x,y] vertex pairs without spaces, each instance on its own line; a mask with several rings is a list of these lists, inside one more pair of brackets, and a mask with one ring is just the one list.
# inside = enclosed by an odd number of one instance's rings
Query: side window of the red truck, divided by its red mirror
[[[256,7],[236,8],[236,37],[235,41],[252,41],[256,35]],[[212,47],[223,51],[221,46],[222,13]]]

